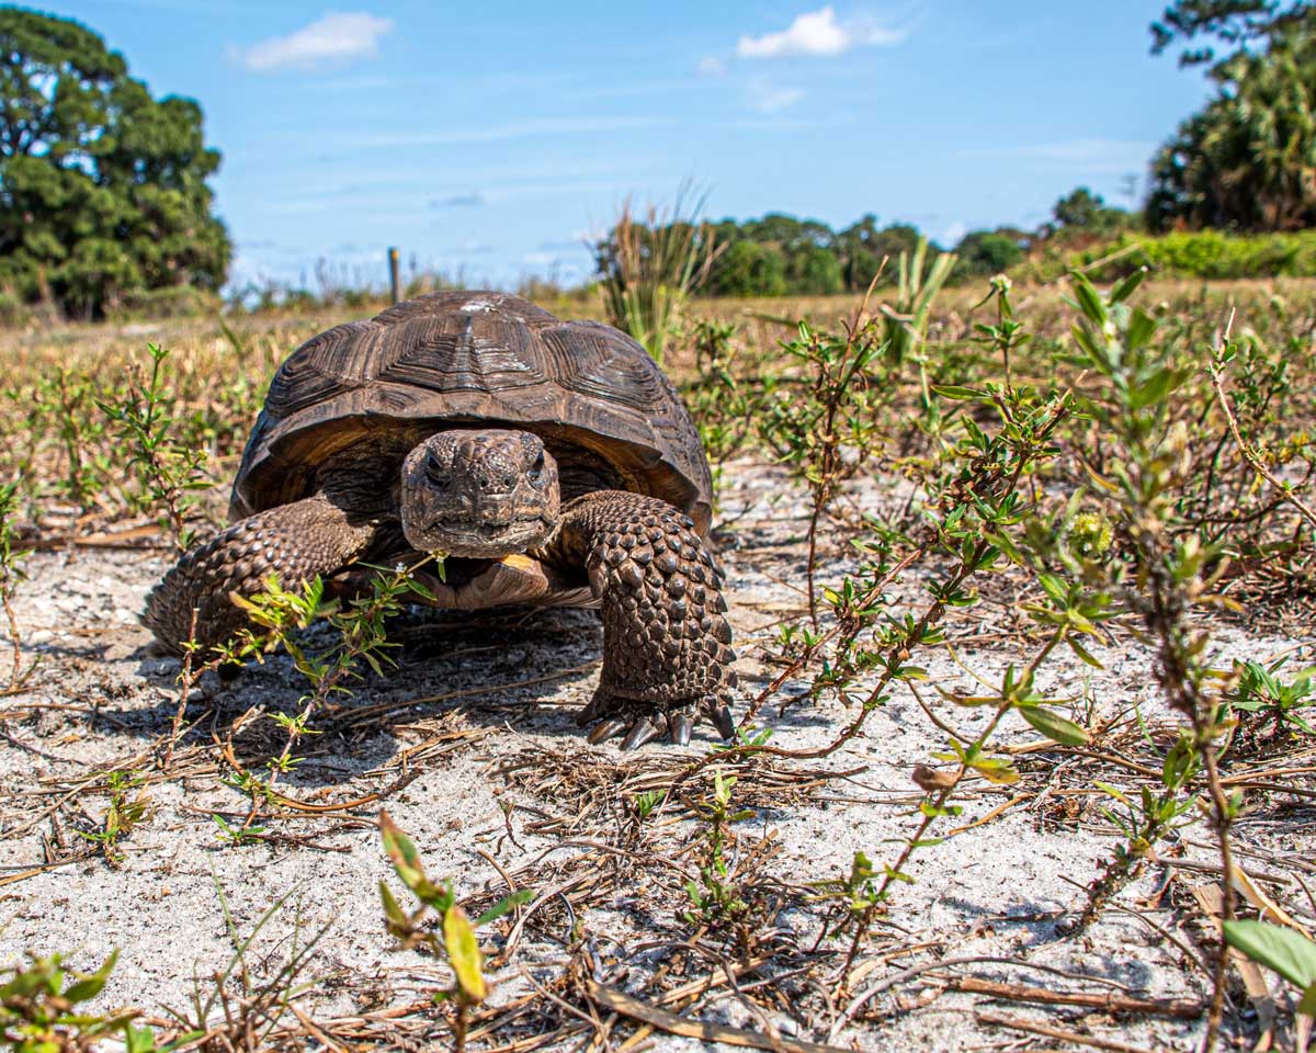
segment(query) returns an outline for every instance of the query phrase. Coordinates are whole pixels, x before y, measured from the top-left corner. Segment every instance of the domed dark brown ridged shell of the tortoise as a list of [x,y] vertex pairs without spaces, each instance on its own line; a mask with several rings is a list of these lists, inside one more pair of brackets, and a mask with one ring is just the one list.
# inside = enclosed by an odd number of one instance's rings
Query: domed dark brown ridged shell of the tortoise
[[400,461],[415,441],[463,425],[583,449],[626,490],[708,530],[699,432],[649,353],[609,325],[559,321],[501,292],[434,292],[303,344],[270,383],[229,519],[309,496],[318,466],[358,441],[396,434]]

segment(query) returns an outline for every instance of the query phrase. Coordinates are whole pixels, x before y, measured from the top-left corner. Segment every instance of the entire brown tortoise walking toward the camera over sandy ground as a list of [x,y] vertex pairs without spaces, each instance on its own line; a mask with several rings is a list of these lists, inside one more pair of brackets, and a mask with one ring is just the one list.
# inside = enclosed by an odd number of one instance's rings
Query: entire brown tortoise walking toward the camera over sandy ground
[[[433,604],[601,608],[603,670],[580,724],[622,749],[734,733],[722,577],[699,432],[645,349],[499,292],[436,292],[303,344],[270,384],[230,525],[155,586],[172,653],[232,637],[249,596],[367,566],[420,571]],[[195,625],[195,634],[193,634]]]

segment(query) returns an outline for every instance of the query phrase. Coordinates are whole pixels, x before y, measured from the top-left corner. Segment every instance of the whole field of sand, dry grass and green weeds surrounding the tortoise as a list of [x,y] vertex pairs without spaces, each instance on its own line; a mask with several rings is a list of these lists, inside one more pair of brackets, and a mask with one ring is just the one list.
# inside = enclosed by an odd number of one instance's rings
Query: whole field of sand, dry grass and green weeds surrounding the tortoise
[[880,299],[696,305],[670,345],[744,724],[624,758],[574,732],[588,615],[276,592],[232,683],[118,615],[330,320],[7,334],[5,1035],[1304,1048],[1316,287]]

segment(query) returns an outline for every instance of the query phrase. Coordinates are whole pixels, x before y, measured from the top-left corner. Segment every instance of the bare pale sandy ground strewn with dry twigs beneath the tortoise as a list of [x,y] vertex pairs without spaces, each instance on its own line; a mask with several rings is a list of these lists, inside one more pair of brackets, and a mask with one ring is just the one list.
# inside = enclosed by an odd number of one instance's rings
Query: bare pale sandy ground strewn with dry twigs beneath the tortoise
[[[736,484],[725,495],[724,512],[734,521],[721,558],[741,654],[741,695],[749,699],[772,674],[763,661],[772,649],[772,624],[803,602],[792,584],[801,578],[801,505],[795,496],[783,499],[784,483],[774,469],[730,466],[728,478]],[[478,624],[408,615],[399,624],[399,667],[355,684],[354,698],[340,703],[336,719],[315,740],[315,756],[284,783],[304,802],[367,800],[266,821],[267,841],[234,845],[220,836],[213,816],[241,823],[249,799],[224,782],[212,734],[222,736],[250,707],[292,711],[304,683],[284,657],[232,684],[208,677],[190,709],[197,723],[179,744],[174,774],[166,777],[155,744],[176,706],[178,662],[154,655],[149,634],[136,623],[164,566],[158,550],[95,549],[37,553],[28,563],[32,580],[20,594],[17,615],[28,653],[41,665],[25,694],[0,700],[0,961],[61,950],[72,965],[88,969],[118,948],[118,967],[97,1004],[130,1004],[155,1017],[166,1010],[187,1012],[193,991],[204,996],[213,986],[209,978],[233,954],[221,900],[242,936],[282,900],[249,960],[257,979],[267,977],[295,938],[305,941],[324,929],[301,977],[317,981],[299,1003],[305,1015],[333,1020],[422,999],[446,974],[416,952],[395,952],[384,932],[376,883],[386,878],[399,895],[403,890],[375,828],[382,799],[415,838],[430,874],[451,875],[461,898],[479,904],[497,898],[507,891],[504,875],[551,894],[524,927],[513,931],[511,921],[501,921],[487,931],[490,949],[504,946],[509,931],[516,937],[511,962],[494,970],[499,982],[492,1004],[521,998],[532,978],[541,985],[561,978],[572,958],[580,961],[580,948],[611,986],[650,1000],[654,991],[713,967],[694,954],[684,960],[683,978],[671,969],[670,944],[691,935],[680,919],[690,904],[671,865],[675,860],[678,869],[692,869],[680,854],[697,833],[688,811],[669,800],[638,840],[622,832],[633,792],[665,775],[670,781],[671,773],[704,756],[713,738],[705,728],[690,749],[649,745],[624,763],[615,746],[584,741],[574,716],[597,675],[601,633],[592,613],[558,611]],[[838,566],[830,563],[824,579]],[[898,590],[896,603],[919,603],[917,575]],[[1008,603],[990,603],[951,624],[957,653],[973,673],[991,681],[1023,657],[1008,637],[992,636],[1013,620]],[[1223,661],[1267,658],[1311,642],[1230,625],[1217,627],[1216,638]],[[317,640],[328,642],[324,629],[311,630],[311,642]],[[1138,704],[1153,727],[1163,720],[1148,654],[1124,641],[1103,657],[1104,671],[1058,657],[1044,666],[1041,686],[1055,695],[1086,695],[1107,716]],[[933,684],[971,683],[944,650],[924,663]],[[930,690],[928,695],[934,696]],[[386,704],[392,708],[353,719],[365,707]],[[967,729],[982,719],[976,713],[955,711],[951,719]],[[829,742],[850,716],[836,703],[796,704],[780,715],[765,708],[761,723],[774,728],[774,745],[801,749]],[[770,837],[775,854],[762,865],[765,879],[794,887],[848,871],[855,850],[875,861],[894,860],[916,823],[920,794],[911,770],[929,762],[944,740],[916,700],[899,691],[873,713],[862,737],[830,757],[746,766],[737,792],[753,815],[736,824],[738,858]],[[1030,740],[1036,734],[1021,723],[1001,733],[1004,742]],[[262,750],[268,756],[278,752],[282,733],[268,719],[255,720],[238,742],[243,757]],[[1148,867],[1086,935],[1066,937],[1063,916],[1082,906],[1080,886],[1096,875],[1116,842],[1087,792],[1092,779],[1112,775],[1095,773],[1091,761],[1073,754],[1025,756],[1020,765],[1020,787],[974,783],[961,798],[963,813],[941,827],[967,829],[915,856],[909,873],[916,881],[898,886],[854,990],[936,958],[973,962],[890,985],[855,1020],[837,1028],[816,986],[792,979],[782,981],[790,996],[775,1008],[767,1002],[770,1008],[751,1010],[722,987],[695,1015],[869,1050],[1007,1048],[1026,1037],[984,1023],[983,1012],[1049,1021],[1133,1046],[1191,1048],[1202,1035],[1200,1019],[1001,1004],[948,989],[946,977],[975,975],[1188,1002],[1208,992],[1202,969],[1190,961],[1204,953],[1204,933],[1180,907],[1188,899],[1187,882],[1208,881],[1209,874],[1175,871],[1175,881],[1162,887],[1167,871]],[[117,865],[89,854],[93,846],[78,835],[95,829],[104,815],[104,782],[92,777],[108,767],[149,779],[149,813],[121,840]],[[850,774],[822,779],[816,773]],[[399,788],[399,782],[405,784]],[[1304,784],[1312,786],[1309,777]],[[1016,795],[1023,799],[973,825]],[[1284,881],[1286,861],[1309,873],[1316,860],[1309,802],[1302,807],[1300,800],[1270,794],[1258,795],[1254,804],[1238,828],[1244,861],[1258,871],[1279,871]],[[1175,840],[1186,858],[1215,860],[1200,824]],[[634,858],[615,852],[609,862],[609,844]],[[29,873],[49,861],[55,865]],[[572,885],[583,874],[611,878]],[[1269,887],[1296,896],[1286,902],[1302,900],[1291,883]],[[824,940],[811,956],[824,904],[799,894],[786,903],[771,937],[780,950],[778,965],[765,973],[808,963],[819,977],[834,971],[845,940]],[[1246,1032],[1250,1010],[1240,1002],[1232,1027]],[[491,1041],[551,1029],[559,1017],[578,1023],[546,1000],[540,1008],[524,1017],[521,1031],[509,1025]],[[629,1027],[619,1021],[611,1041],[620,1042]],[[407,1033],[417,1041],[415,1031]],[[437,1024],[429,1035],[447,1042]],[[563,1048],[579,1041],[563,1039]],[[654,1041],[659,1049],[704,1048],[662,1033]]]

